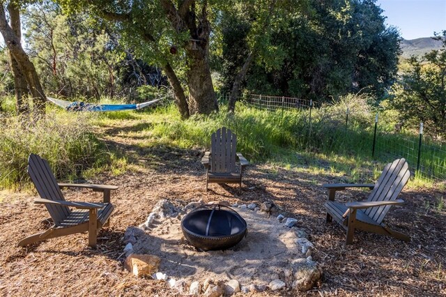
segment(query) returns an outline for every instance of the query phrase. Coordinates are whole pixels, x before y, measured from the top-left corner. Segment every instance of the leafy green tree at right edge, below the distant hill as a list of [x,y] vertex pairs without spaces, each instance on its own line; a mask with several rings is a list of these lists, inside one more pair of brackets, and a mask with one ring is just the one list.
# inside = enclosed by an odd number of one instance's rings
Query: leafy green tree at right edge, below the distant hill
[[393,87],[392,105],[406,125],[422,121],[431,135],[446,136],[446,30],[443,47],[424,54],[422,59],[409,59],[410,68],[404,71]]

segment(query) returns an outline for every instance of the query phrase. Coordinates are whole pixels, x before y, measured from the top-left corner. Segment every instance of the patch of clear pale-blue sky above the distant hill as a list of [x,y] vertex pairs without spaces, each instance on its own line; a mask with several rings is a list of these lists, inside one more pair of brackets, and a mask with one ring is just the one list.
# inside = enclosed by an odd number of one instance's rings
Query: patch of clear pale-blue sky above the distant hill
[[377,0],[387,24],[396,26],[404,39],[433,36],[446,30],[446,0]]

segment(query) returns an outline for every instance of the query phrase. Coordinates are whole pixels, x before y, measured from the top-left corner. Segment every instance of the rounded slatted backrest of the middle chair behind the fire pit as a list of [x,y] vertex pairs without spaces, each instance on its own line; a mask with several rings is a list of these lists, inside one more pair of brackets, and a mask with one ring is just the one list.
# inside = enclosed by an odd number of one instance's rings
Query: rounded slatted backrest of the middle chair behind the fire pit
[[210,137],[210,172],[228,173],[236,169],[237,137],[225,127]]

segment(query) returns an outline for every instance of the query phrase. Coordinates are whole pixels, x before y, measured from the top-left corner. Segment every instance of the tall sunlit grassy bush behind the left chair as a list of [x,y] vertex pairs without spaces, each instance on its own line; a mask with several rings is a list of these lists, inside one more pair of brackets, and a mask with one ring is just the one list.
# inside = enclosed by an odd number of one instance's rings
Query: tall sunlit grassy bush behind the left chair
[[107,155],[89,125],[91,114],[49,112],[36,121],[10,116],[0,121],[0,188],[22,188],[30,153],[48,160],[56,178],[74,178]]

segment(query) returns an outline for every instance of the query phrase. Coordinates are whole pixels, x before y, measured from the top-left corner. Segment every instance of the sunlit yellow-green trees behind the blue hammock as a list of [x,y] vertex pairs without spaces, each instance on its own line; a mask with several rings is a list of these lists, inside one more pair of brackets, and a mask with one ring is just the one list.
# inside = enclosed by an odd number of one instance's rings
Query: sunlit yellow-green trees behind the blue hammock
[[121,47],[118,28],[85,13],[63,15],[52,2],[24,13],[24,36],[45,89],[86,98],[137,97],[137,87],[166,84],[160,70]]

